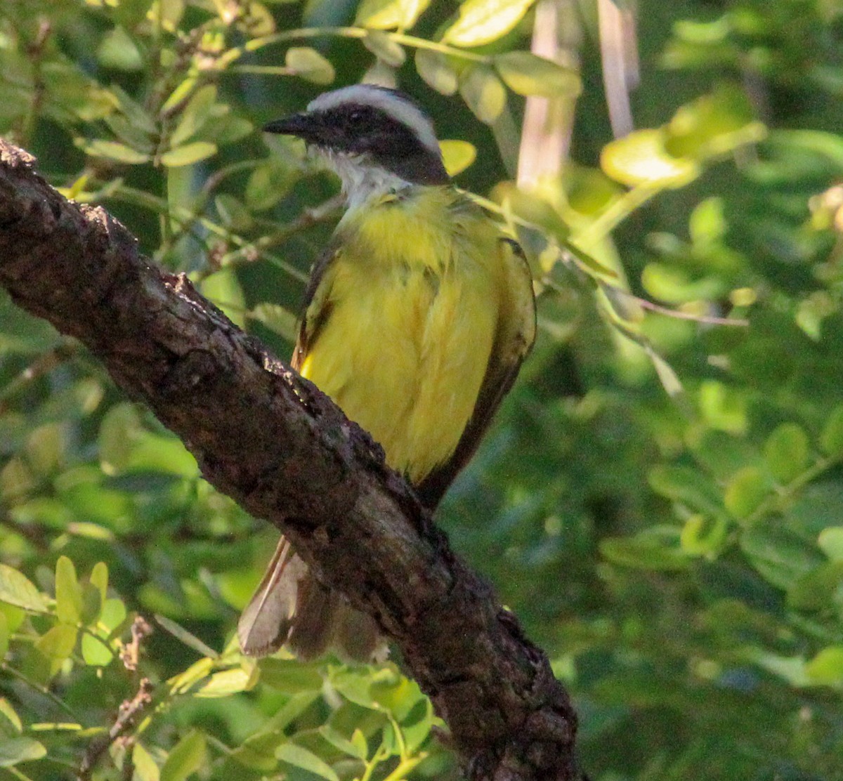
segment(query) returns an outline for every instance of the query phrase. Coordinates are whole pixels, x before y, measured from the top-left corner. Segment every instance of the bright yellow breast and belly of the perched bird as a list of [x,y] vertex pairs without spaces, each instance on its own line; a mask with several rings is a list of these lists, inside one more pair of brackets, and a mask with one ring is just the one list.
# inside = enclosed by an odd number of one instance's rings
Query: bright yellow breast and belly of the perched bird
[[301,373],[417,483],[448,460],[474,410],[499,296],[494,243],[454,241],[447,222],[404,211],[376,212],[344,246]]

